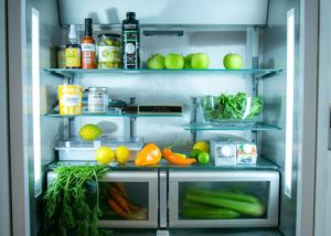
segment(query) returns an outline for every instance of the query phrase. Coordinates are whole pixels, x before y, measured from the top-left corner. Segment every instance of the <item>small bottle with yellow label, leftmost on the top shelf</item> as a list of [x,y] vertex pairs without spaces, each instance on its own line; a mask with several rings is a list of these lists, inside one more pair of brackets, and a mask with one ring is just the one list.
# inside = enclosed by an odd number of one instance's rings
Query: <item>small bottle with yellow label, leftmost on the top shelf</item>
[[81,68],[81,45],[77,43],[76,28],[71,24],[68,44],[65,45],[65,67]]

